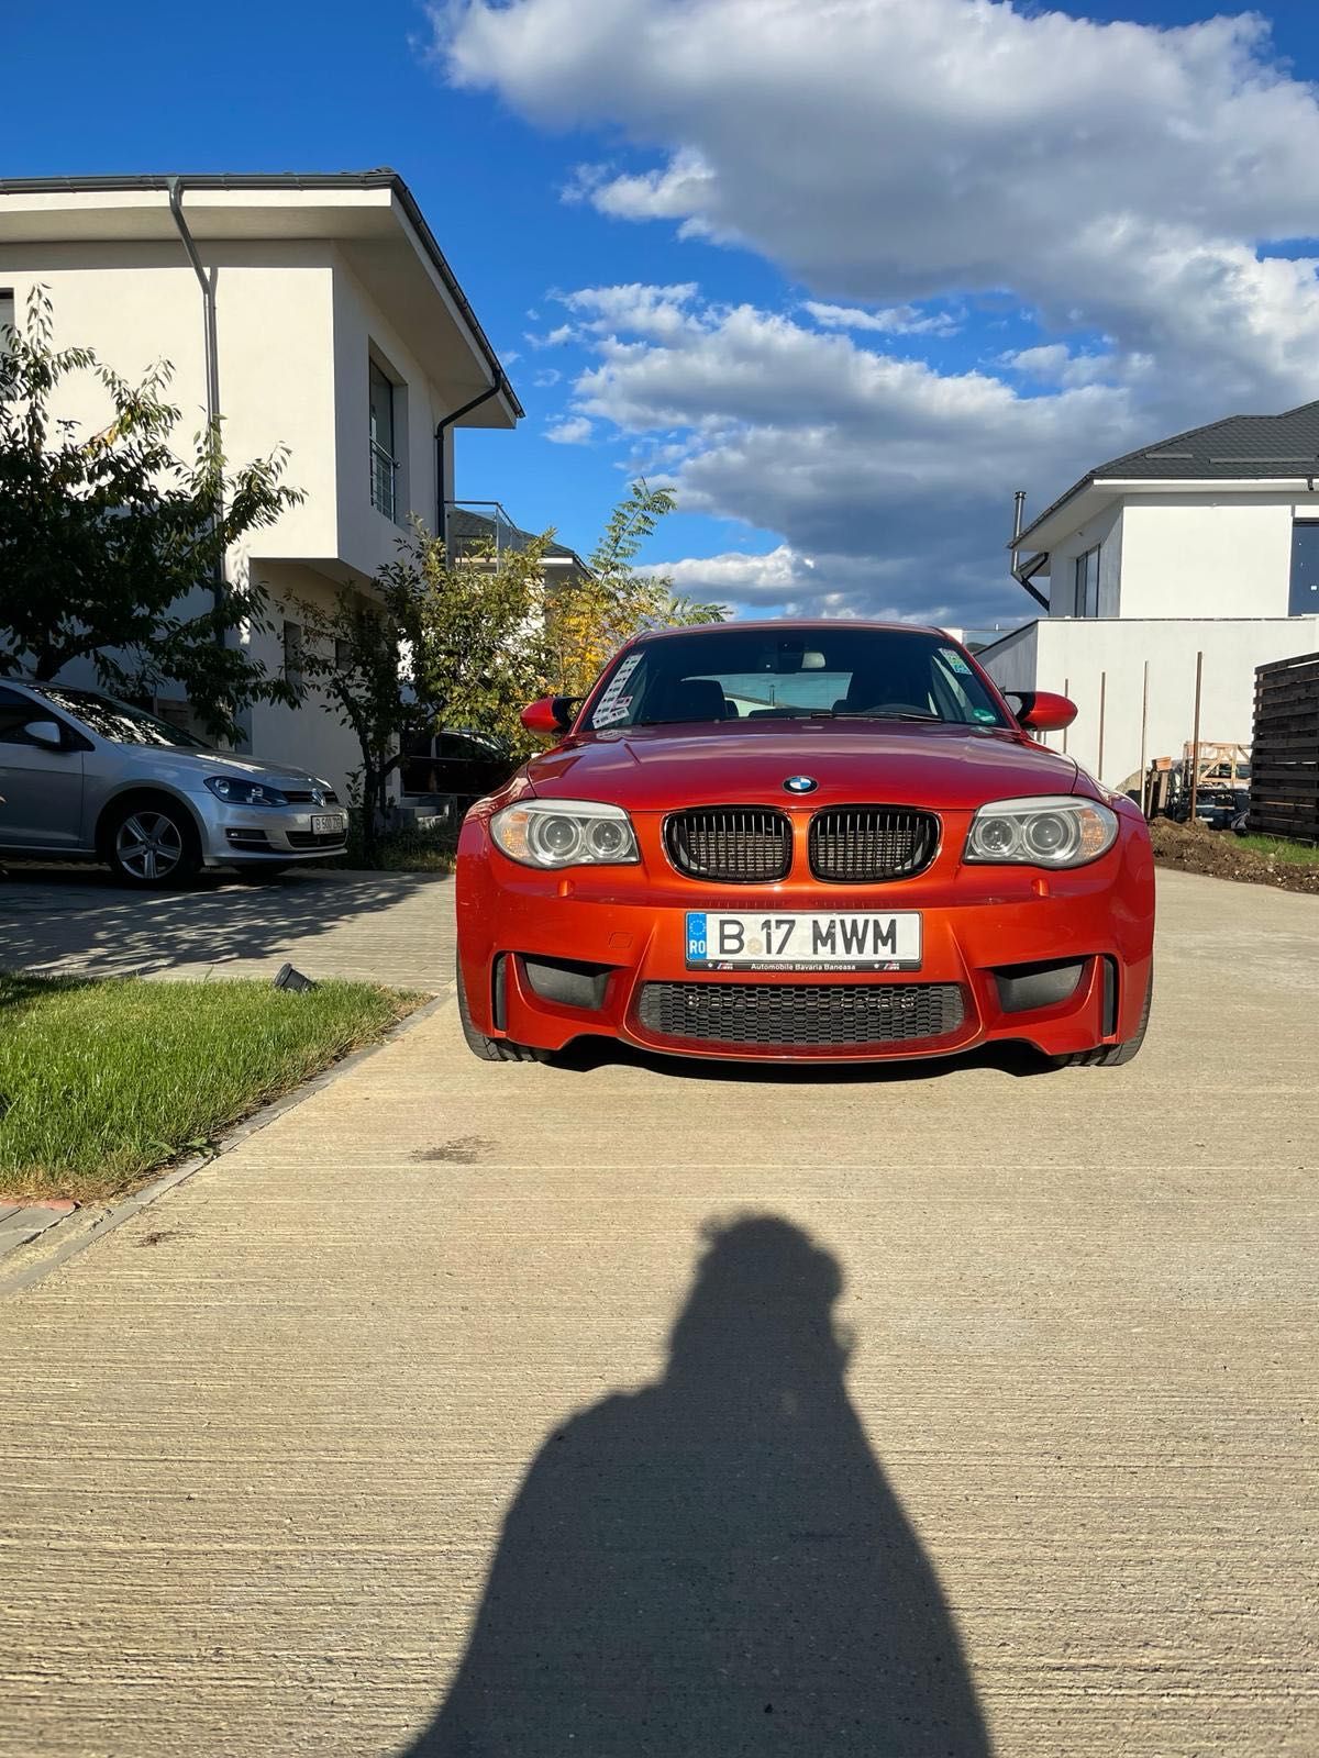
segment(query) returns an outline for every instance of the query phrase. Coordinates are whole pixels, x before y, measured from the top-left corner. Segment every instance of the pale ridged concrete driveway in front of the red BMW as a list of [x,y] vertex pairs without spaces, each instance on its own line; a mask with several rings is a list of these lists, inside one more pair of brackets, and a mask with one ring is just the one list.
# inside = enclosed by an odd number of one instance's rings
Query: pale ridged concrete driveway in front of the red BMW
[[1124,1071],[470,1058],[11,1299],[0,1753],[1312,1758],[1319,900]]

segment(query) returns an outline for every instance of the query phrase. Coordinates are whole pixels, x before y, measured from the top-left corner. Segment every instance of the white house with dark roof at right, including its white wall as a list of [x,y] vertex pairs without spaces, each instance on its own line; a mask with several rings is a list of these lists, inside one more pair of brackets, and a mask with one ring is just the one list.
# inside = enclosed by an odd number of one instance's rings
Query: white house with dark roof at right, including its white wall
[[1317,482],[1319,403],[1097,466],[1013,540],[1046,615],[981,665],[1002,689],[1069,694],[1080,714],[1048,744],[1110,786],[1140,768],[1143,721],[1147,758],[1182,756],[1198,654],[1201,738],[1249,744],[1254,668],[1319,650]]

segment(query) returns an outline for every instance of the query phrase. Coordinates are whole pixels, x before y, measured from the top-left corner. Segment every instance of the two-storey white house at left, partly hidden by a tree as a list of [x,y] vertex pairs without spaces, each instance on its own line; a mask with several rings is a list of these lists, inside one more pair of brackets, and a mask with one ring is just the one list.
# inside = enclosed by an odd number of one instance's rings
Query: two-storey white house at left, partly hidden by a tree
[[[454,429],[522,415],[392,171],[0,183],[0,323],[21,320],[33,283],[49,288],[58,343],[91,346],[128,378],[172,362],[178,448],[208,411],[236,461],[288,447],[285,480],[306,499],[229,559],[230,577],[251,570],[276,599],[274,635],[255,638],[271,670],[297,663],[290,599],[364,585],[412,512],[445,529]],[[104,424],[88,374],[62,390],[56,415]],[[244,744],[336,786],[357,765],[315,703],[257,705]]]

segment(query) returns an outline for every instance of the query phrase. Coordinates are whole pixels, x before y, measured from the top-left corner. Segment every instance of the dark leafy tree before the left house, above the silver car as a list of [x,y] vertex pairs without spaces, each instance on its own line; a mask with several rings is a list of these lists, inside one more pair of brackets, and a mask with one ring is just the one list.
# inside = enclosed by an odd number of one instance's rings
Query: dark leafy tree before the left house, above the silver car
[[[53,334],[44,287],[25,327],[0,334],[0,675],[46,680],[90,659],[120,694],[174,680],[216,737],[251,701],[295,703],[234,640],[269,628],[264,587],[223,580],[230,548],[302,499],[281,482],[285,450],[229,469],[211,424],[185,462],[171,450],[169,362],[130,383]],[[51,413],[77,373],[113,411],[90,436]]]

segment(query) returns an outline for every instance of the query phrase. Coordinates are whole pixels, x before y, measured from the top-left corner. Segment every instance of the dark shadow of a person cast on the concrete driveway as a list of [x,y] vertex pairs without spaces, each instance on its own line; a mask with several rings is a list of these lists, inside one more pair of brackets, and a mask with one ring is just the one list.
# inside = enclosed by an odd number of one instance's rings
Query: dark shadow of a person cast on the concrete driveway
[[709,1231],[656,1385],[550,1435],[412,1758],[985,1758],[920,1540],[871,1456],[842,1276]]

